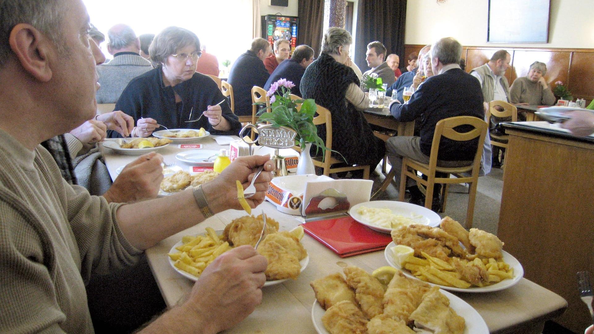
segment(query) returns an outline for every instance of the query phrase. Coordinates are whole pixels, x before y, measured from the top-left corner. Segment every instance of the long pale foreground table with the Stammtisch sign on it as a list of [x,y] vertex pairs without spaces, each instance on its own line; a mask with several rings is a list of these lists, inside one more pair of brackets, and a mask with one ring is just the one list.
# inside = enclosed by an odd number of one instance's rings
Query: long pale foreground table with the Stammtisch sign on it
[[[222,149],[212,137],[198,143],[203,149]],[[119,155],[103,148],[106,165],[112,177],[116,170],[134,160],[135,156]],[[181,150],[170,144],[159,151],[166,162],[174,162],[175,154]],[[176,162],[188,169],[189,165]],[[304,220],[299,216],[287,215],[276,210],[268,201],[252,209],[252,214],[266,213],[270,219],[279,222],[279,230],[287,231],[300,225]],[[147,259],[156,279],[163,299],[168,307],[175,307],[191,291],[194,282],[176,272],[169,263],[168,253],[184,235],[202,234],[207,227],[222,230],[233,219],[246,215],[244,211],[226,210],[211,218],[172,235],[146,250]],[[245,320],[225,333],[316,333],[312,322],[314,292],[309,282],[317,278],[341,272],[342,266],[352,264],[368,272],[387,266],[383,251],[341,258],[329,248],[305,234],[301,240],[308,251],[309,262],[297,279],[289,279],[276,285],[263,288],[263,300]],[[233,279],[233,278],[229,278]],[[490,333],[541,333],[546,320],[563,313],[567,303],[563,298],[548,289],[527,279],[503,291],[489,293],[455,293],[469,303],[485,320]]]

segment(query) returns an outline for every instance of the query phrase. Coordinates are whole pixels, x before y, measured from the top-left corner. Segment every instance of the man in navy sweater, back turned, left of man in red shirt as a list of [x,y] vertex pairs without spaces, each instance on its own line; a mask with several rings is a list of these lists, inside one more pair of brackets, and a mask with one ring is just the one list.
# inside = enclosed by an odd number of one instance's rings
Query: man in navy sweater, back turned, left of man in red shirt
[[233,86],[235,115],[252,115],[252,87],[264,87],[270,77],[263,63],[268,53],[270,43],[266,39],[255,38],[251,48],[233,63],[227,81]]

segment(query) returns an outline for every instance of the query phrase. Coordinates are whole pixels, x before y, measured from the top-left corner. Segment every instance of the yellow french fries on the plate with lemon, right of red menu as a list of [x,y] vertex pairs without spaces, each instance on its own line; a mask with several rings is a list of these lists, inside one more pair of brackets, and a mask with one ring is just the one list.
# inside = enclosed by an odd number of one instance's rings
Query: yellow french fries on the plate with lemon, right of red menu
[[415,256],[407,257],[404,260],[403,267],[409,270],[416,278],[429,283],[467,289],[471,286],[491,285],[501,282],[504,279],[511,279],[514,276],[513,268],[510,268],[510,265],[505,263],[503,259],[496,260],[492,257],[489,259],[479,259],[477,257],[472,261],[460,260],[463,264],[475,266],[477,271],[484,270],[488,274],[488,282],[471,283],[465,280],[451,261],[448,263],[447,261],[437,259],[437,257],[429,256],[424,252],[421,252],[421,255],[425,259]]

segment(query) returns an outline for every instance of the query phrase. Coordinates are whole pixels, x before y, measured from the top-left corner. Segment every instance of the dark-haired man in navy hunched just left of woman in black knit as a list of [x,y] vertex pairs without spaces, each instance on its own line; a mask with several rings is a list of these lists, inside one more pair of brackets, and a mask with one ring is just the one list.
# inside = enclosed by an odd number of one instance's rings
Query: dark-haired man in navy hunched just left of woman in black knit
[[301,77],[305,73],[305,69],[314,61],[314,49],[309,48],[307,45],[299,45],[295,48],[291,59],[285,59],[280,63],[279,67],[274,69],[274,72],[270,74],[270,78],[264,85],[264,90],[270,89],[273,83],[284,78],[295,84],[295,87],[291,89],[291,93],[301,97],[301,91],[299,90],[299,84],[301,84]]

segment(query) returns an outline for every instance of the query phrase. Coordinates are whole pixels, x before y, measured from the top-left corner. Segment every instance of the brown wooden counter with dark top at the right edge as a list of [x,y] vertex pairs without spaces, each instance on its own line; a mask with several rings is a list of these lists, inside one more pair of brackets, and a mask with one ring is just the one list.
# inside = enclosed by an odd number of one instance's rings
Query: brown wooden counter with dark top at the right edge
[[546,122],[503,126],[510,139],[498,237],[525,278],[568,301],[555,321],[582,333],[592,317],[576,272],[594,273],[594,137],[577,138]]

